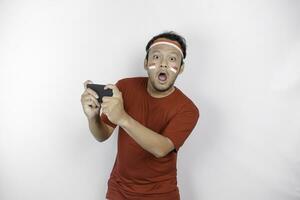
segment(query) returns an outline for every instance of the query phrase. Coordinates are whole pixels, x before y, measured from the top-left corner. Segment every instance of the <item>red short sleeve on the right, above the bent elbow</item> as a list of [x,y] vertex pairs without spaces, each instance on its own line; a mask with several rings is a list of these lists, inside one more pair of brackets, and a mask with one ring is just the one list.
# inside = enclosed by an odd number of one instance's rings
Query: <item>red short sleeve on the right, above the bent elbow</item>
[[196,106],[183,108],[167,124],[162,135],[168,137],[177,152],[196,126],[200,113]]

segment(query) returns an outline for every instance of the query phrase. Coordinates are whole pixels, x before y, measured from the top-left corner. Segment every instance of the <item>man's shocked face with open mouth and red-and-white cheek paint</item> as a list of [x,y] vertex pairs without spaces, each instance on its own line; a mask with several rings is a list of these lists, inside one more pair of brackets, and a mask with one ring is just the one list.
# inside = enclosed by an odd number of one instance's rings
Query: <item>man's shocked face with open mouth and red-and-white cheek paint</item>
[[180,67],[181,59],[180,51],[171,45],[158,44],[149,49],[145,69],[153,88],[164,92],[174,85],[183,69],[183,66]]

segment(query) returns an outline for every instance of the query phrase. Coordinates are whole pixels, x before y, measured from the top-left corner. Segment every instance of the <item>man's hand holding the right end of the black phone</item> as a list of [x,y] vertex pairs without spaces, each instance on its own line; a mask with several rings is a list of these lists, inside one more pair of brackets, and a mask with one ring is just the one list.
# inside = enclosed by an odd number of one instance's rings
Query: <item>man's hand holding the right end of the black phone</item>
[[118,89],[116,85],[107,84],[104,89],[112,89],[112,97],[102,98],[102,112],[107,116],[107,118],[114,124],[120,125],[120,123],[125,119],[126,112],[124,110],[122,92]]

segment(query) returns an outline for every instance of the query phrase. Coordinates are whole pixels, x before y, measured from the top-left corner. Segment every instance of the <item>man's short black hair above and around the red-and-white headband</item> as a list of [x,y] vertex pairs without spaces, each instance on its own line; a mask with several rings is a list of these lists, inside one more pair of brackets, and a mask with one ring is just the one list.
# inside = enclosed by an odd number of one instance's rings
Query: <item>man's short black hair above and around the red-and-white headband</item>
[[181,59],[181,65],[183,64],[183,59],[186,57],[186,40],[184,39],[184,37],[182,37],[181,35],[179,35],[178,33],[174,32],[174,31],[167,31],[167,32],[163,32],[160,33],[156,36],[154,36],[147,44],[146,46],[146,59],[148,60],[148,54],[149,54],[149,48],[150,46],[153,44],[153,42],[158,39],[158,38],[166,38],[169,40],[173,40],[176,41],[180,44],[180,47],[182,49],[182,53],[183,53],[183,58]]

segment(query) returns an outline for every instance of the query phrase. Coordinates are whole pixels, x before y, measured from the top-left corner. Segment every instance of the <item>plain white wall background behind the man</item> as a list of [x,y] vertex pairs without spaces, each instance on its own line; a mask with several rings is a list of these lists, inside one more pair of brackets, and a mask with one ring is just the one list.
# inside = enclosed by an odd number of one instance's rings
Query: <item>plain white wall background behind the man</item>
[[89,132],[83,82],[147,76],[145,46],[187,40],[175,85],[200,109],[183,200],[300,199],[297,0],[0,1],[0,199],[102,200],[117,129]]

